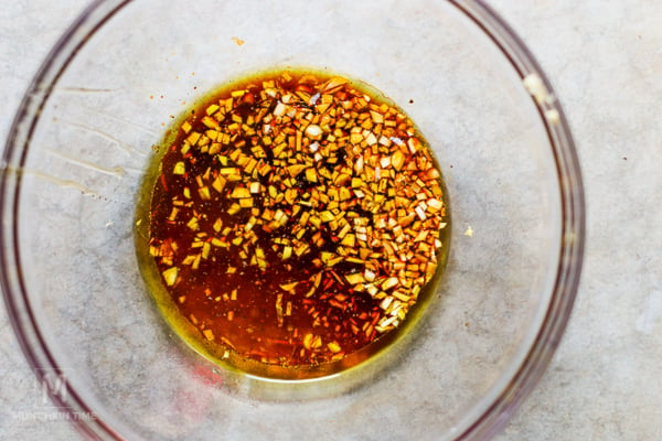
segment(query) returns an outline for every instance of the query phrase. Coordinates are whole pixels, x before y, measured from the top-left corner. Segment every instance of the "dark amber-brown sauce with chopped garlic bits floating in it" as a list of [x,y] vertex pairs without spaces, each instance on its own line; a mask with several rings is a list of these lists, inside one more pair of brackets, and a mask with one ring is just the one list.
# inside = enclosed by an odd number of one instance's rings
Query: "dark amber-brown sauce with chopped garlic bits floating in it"
[[280,72],[190,115],[150,184],[149,255],[197,337],[310,366],[399,327],[447,246],[441,175],[402,110]]

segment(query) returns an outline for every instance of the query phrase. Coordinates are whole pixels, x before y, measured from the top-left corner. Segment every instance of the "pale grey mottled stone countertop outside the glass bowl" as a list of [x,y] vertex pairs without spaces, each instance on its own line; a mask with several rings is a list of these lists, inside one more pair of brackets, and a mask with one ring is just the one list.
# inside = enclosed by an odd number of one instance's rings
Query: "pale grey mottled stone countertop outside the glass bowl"
[[[0,136],[41,61],[87,0],[0,8]],[[656,440],[662,433],[662,2],[493,0],[554,84],[588,208],[581,284],[554,361],[498,440]],[[0,439],[65,440],[34,421],[40,389],[0,312]]]

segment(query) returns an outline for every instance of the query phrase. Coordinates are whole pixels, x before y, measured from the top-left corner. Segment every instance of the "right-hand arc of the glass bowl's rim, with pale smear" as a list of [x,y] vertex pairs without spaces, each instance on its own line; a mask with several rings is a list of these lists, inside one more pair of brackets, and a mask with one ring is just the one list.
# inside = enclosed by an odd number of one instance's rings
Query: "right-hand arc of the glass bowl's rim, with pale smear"
[[450,2],[501,50],[532,95],[552,147],[560,195],[560,246],[549,305],[520,368],[494,402],[457,438],[479,440],[492,438],[503,429],[535,388],[560,344],[579,287],[586,241],[586,205],[575,141],[541,65],[515,31],[482,0]]

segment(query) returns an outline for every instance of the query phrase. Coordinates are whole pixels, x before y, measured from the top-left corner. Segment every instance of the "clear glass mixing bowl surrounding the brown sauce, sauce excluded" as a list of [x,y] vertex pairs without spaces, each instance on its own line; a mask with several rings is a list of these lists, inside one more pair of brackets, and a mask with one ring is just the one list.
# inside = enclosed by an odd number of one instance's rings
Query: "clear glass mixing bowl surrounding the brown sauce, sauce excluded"
[[[361,78],[401,105],[446,178],[452,245],[415,329],[310,381],[183,344],[135,252],[141,178],[170,121],[269,67]],[[534,387],[584,248],[564,114],[477,0],[97,1],[25,94],[2,162],[2,291],[53,401],[93,439],[484,439]]]

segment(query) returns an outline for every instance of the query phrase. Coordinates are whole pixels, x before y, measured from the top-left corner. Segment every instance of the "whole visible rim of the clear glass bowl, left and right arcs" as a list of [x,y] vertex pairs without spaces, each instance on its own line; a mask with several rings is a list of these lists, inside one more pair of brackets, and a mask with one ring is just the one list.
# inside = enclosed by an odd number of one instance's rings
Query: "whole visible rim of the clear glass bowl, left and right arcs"
[[[549,305],[537,335],[510,381],[487,406],[481,415],[455,435],[456,440],[487,439],[500,432],[533,390],[549,364],[572,314],[583,266],[586,235],[584,186],[575,143],[565,114],[555,92],[516,33],[482,0],[444,0],[468,18],[491,40],[510,62],[524,85],[536,82],[536,95],[530,89],[552,148],[559,186],[560,246],[554,288]],[[73,22],[49,53],[31,82],[12,122],[0,166],[0,219],[7,224],[0,229],[0,289],[19,345],[41,384],[46,372],[60,373],[53,354],[38,325],[29,301],[19,262],[19,195],[22,164],[32,140],[39,115],[54,85],[74,60],[78,50],[119,10],[131,0],[95,0]],[[68,415],[76,429],[90,439],[124,439],[108,423],[95,416],[87,402],[65,383],[66,390],[47,390],[52,401]],[[93,418],[76,418],[84,413]]]

